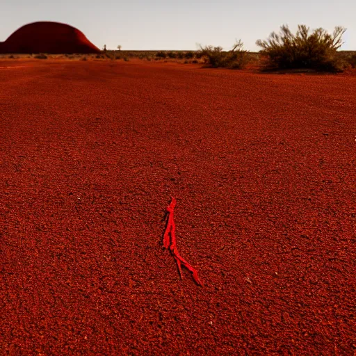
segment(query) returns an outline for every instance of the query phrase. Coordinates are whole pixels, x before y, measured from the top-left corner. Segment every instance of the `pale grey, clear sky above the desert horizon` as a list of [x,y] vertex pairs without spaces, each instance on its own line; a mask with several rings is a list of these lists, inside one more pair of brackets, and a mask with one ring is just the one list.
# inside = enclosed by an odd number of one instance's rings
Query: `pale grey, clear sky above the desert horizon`
[[56,21],[81,30],[97,47],[230,49],[235,39],[257,51],[257,39],[289,24],[312,29],[348,29],[342,49],[356,50],[356,0],[0,0],[0,41],[36,21]]

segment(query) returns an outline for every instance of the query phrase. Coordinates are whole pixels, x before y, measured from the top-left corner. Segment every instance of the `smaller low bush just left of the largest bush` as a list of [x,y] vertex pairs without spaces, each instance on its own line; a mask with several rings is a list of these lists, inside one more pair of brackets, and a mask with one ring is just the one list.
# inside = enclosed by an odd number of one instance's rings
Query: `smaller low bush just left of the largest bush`
[[223,51],[222,47],[200,46],[198,53],[214,68],[243,69],[250,61],[248,51],[243,49],[241,40],[234,44],[231,51]]

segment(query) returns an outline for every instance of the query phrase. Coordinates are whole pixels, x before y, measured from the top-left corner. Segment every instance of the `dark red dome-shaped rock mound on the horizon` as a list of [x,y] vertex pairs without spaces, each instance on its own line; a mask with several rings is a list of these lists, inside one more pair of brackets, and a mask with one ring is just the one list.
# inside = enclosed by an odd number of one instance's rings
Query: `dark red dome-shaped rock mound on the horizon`
[[89,54],[100,50],[86,36],[67,24],[33,22],[20,27],[5,42],[0,53]]

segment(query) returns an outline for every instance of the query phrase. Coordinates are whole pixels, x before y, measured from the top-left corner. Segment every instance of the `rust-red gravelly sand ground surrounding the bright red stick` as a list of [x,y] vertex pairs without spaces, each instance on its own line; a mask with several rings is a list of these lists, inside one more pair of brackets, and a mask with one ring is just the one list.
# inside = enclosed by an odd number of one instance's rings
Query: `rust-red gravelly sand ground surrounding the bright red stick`
[[3,355],[355,355],[356,76],[0,66]]

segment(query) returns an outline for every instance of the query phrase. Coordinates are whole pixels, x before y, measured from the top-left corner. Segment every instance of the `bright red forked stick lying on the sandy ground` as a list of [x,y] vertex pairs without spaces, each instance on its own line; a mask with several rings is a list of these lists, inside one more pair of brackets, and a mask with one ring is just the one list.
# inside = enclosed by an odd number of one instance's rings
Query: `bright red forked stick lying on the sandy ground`
[[183,265],[193,274],[193,280],[195,281],[195,283],[198,284],[199,286],[203,286],[202,281],[199,279],[197,275],[197,270],[193,268],[191,264],[188,264],[188,262],[183,257],[181,257],[177,249],[177,242],[175,238],[175,221],[174,221],[174,213],[175,213],[174,210],[176,204],[177,204],[177,200],[175,200],[175,198],[172,197],[172,201],[170,202],[167,208],[168,223],[163,235],[163,246],[167,250],[170,250],[170,253],[173,255],[173,257],[175,257],[175,261],[177,262],[180,277],[181,278],[183,277],[181,273],[181,265]]

